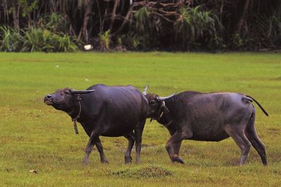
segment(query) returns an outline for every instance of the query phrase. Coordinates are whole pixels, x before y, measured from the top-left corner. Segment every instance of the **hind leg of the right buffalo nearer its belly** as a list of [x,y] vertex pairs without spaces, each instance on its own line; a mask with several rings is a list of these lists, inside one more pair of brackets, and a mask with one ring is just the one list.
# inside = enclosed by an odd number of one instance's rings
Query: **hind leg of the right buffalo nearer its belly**
[[241,157],[239,165],[244,165],[247,160],[249,150],[251,148],[251,142],[247,139],[244,134],[244,129],[237,127],[236,129],[226,129],[226,132],[233,138],[237,146],[241,149]]

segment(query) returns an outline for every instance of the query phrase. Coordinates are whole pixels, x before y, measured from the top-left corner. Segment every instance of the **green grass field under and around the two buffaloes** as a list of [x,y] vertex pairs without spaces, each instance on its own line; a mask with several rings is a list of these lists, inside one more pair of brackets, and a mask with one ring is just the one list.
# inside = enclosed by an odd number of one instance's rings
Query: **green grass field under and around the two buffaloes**
[[[141,164],[124,165],[126,139],[101,137],[110,164],[96,148],[81,161],[88,137],[70,117],[43,103],[63,87],[132,84],[166,96],[175,91],[233,91],[258,100],[256,129],[266,144],[268,167],[251,148],[183,141],[185,165],[171,164],[169,133],[147,120]],[[274,53],[0,53],[0,186],[281,186],[281,54]],[[132,157],[136,153],[133,151]],[[34,169],[37,174],[30,173]]]

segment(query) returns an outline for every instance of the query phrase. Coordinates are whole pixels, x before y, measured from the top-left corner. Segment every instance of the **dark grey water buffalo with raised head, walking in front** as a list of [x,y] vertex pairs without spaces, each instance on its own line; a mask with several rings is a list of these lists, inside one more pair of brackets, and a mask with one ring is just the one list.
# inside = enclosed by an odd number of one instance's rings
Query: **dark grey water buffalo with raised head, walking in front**
[[[148,112],[148,101],[133,86],[105,86],[96,84],[84,91],[58,89],[45,96],[44,102],[67,112],[79,122],[90,137],[84,163],[96,145],[100,161],[107,162],[99,136],[124,136],[129,145],[125,163],[131,162],[131,149],[136,141],[136,162],[140,162],[141,136]],[[76,124],[74,123],[74,126]],[[76,129],[77,131],[77,129]]]

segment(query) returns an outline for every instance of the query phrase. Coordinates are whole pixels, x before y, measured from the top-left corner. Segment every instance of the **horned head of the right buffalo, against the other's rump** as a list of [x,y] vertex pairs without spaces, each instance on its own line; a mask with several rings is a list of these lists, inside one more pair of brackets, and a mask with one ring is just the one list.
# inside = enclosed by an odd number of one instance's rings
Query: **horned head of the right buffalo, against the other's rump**
[[148,117],[157,120],[162,116],[163,112],[169,112],[168,108],[166,108],[165,101],[172,98],[176,93],[171,94],[171,96],[161,97],[154,93],[146,93],[147,89],[148,85],[145,86],[143,95],[148,99]]

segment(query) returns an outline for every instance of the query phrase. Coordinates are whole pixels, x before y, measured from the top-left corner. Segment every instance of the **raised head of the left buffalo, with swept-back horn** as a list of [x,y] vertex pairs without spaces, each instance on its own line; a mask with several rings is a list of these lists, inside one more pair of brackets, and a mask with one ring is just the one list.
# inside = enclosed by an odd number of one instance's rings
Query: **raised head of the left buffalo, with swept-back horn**
[[55,93],[45,96],[44,103],[52,105],[57,110],[70,112],[74,105],[81,100],[80,94],[91,93],[94,90],[74,90],[74,89],[58,89]]

